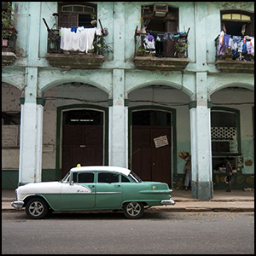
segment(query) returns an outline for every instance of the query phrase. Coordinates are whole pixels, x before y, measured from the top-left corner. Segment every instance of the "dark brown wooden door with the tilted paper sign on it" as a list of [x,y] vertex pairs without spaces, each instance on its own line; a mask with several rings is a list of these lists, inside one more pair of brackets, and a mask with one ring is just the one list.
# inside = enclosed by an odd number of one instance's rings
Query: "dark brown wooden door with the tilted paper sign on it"
[[[154,138],[166,136],[168,145],[156,148]],[[143,181],[167,183],[172,187],[171,126],[132,126],[132,171]]]

